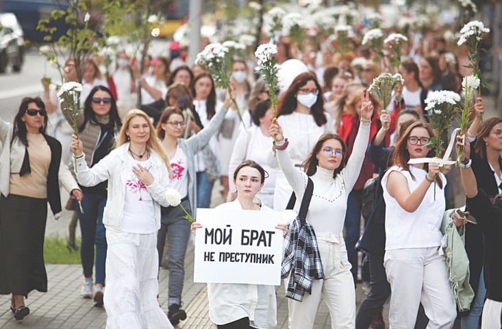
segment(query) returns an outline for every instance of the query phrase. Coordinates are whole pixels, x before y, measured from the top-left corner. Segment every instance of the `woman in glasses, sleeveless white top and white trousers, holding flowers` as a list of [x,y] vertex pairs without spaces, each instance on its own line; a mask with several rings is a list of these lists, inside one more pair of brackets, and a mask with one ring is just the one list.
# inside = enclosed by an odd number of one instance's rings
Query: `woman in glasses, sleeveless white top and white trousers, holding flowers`
[[381,180],[391,328],[413,328],[420,303],[434,328],[451,328],[457,316],[447,263],[439,253],[447,180],[437,163],[408,164],[434,156],[427,147],[431,136],[422,121],[411,123],[395,145],[394,166]]

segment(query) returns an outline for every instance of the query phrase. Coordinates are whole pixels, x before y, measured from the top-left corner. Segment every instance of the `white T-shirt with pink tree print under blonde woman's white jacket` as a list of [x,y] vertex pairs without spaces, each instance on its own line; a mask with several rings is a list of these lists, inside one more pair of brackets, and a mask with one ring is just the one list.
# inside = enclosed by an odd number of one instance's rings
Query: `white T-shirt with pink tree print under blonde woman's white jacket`
[[124,217],[122,218],[123,232],[149,234],[157,232],[155,228],[155,208],[154,201],[147,186],[140,182],[132,171],[132,167],[141,164],[149,171],[153,170],[151,160],[138,161],[130,155],[126,158],[127,165],[131,171],[125,180],[125,202]]

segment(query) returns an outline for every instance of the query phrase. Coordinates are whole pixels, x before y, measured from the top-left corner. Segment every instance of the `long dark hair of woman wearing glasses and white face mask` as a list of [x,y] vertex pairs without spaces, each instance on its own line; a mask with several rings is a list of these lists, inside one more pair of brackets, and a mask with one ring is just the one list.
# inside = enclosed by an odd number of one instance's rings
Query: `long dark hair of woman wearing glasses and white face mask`
[[279,100],[279,104],[277,105],[277,117],[284,114],[291,114],[294,109],[297,108],[297,97],[294,97],[294,95],[298,93],[299,88],[305,86],[305,84],[311,80],[314,84],[316,84],[316,88],[318,90],[317,101],[314,103],[312,108],[310,108],[312,111],[312,117],[314,117],[314,121],[316,121],[318,127],[327,123],[323,110],[323,88],[321,88],[321,85],[317,82],[317,78],[314,73],[311,72],[301,73],[294,78],[288,90],[286,90],[284,95]]

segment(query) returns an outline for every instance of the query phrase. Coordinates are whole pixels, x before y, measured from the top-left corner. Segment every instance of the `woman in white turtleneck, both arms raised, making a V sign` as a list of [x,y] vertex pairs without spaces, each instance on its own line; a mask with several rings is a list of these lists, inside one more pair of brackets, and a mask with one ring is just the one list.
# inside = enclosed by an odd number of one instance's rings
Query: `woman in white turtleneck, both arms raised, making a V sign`
[[[331,317],[331,328],[354,328],[355,285],[351,264],[343,239],[347,197],[352,190],[364,160],[370,134],[373,105],[369,93],[361,93],[360,125],[353,152],[347,162],[347,145],[336,134],[323,134],[303,163],[305,173],[294,168],[279,123],[271,125],[270,134],[277,138],[277,159],[297,200],[303,199],[308,178],[314,183],[306,221],[312,224],[323,263],[324,279],[314,280],[311,294],[303,301],[288,300],[289,328],[313,328],[321,296]],[[279,118],[280,119],[280,118]],[[345,163],[347,162],[347,166]],[[299,202],[297,202],[297,207]],[[327,214],[329,214],[327,216]]]

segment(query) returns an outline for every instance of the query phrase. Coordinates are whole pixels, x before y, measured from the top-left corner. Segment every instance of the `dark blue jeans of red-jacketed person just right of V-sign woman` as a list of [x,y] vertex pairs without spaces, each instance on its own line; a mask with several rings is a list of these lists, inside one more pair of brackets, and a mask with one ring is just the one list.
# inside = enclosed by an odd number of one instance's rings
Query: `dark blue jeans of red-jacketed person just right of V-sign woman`
[[357,250],[355,243],[359,240],[361,226],[362,190],[352,190],[347,198],[347,212],[345,213],[345,245],[347,257],[352,265],[354,284],[357,282]]

